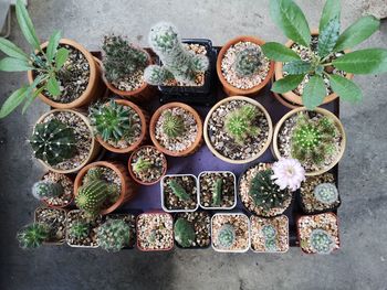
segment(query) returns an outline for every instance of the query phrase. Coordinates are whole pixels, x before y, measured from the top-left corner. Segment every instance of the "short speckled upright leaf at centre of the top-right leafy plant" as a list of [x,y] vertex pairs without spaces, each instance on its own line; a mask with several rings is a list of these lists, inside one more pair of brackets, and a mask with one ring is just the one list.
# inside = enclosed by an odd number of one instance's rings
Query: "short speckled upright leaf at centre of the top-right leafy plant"
[[327,56],[335,47],[339,35],[339,19],[333,18],[321,31],[318,36],[318,55],[324,58]]

